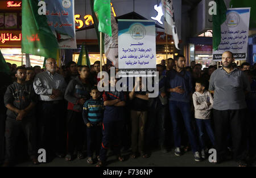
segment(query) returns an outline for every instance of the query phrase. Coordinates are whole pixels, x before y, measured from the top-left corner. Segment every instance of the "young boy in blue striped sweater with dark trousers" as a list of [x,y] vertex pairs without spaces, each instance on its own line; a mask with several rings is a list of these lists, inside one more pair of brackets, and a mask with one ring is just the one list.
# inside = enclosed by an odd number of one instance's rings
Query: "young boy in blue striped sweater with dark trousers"
[[103,105],[100,99],[100,92],[96,86],[92,87],[90,96],[92,96],[92,98],[87,100],[84,104],[82,117],[87,126],[87,163],[93,164],[92,156],[94,150],[96,158],[100,158]]

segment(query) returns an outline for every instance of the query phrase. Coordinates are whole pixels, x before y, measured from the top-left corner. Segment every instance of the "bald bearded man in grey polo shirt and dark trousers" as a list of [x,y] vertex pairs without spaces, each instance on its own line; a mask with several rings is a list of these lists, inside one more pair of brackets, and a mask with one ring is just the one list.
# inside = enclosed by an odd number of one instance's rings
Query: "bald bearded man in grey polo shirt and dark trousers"
[[213,121],[217,163],[227,159],[228,133],[230,133],[234,159],[238,162],[238,166],[244,167],[247,166],[245,162],[245,94],[250,91],[250,83],[241,70],[233,67],[233,62],[232,52],[226,51],[222,54],[223,66],[210,76],[209,90],[214,94]]

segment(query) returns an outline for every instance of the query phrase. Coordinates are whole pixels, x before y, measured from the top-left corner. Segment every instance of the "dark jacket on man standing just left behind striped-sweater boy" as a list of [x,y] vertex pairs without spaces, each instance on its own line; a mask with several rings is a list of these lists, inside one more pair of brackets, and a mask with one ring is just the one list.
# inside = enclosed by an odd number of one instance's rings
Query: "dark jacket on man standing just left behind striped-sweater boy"
[[90,88],[92,84],[82,83],[80,77],[77,76],[68,83],[66,88],[64,98],[68,101],[68,110],[82,112],[83,105],[80,105],[78,101],[80,99],[88,100],[90,99]]

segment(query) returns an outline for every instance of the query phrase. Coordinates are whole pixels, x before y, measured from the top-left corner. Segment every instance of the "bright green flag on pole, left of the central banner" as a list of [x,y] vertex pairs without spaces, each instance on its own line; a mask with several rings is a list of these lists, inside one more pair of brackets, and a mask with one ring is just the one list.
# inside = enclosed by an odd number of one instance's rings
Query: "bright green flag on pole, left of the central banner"
[[110,0],[94,0],[93,10],[98,18],[98,31],[112,36]]

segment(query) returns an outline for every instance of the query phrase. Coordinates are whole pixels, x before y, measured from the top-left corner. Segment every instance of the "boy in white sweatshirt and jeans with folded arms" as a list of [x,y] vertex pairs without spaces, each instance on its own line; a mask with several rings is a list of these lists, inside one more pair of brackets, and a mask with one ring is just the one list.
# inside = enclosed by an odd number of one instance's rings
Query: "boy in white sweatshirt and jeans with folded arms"
[[203,79],[196,80],[195,90],[192,96],[195,107],[195,119],[199,129],[201,158],[205,159],[204,128],[207,130],[210,141],[214,146],[214,134],[210,125],[210,109],[212,109],[213,98],[210,92],[205,90],[205,81]]

